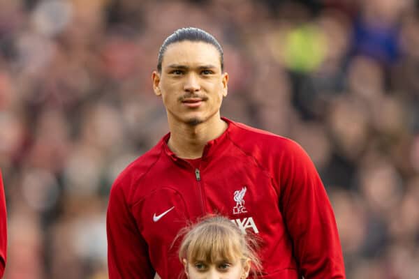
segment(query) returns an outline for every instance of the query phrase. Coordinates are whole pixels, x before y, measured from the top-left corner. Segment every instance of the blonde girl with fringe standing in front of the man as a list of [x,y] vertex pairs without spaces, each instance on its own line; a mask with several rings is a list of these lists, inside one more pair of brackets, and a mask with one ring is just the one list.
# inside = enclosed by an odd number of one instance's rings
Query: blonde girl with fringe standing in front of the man
[[249,272],[256,278],[260,272],[255,239],[225,217],[204,218],[182,234],[179,259],[189,279],[244,279]]

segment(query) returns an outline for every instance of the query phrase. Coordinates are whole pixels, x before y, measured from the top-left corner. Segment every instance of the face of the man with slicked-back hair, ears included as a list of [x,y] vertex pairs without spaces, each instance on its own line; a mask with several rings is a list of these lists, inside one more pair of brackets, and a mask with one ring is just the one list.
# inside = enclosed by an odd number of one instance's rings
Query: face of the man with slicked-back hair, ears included
[[197,125],[219,118],[228,75],[221,73],[220,54],[213,45],[189,40],[169,45],[161,73],[152,77],[169,121]]

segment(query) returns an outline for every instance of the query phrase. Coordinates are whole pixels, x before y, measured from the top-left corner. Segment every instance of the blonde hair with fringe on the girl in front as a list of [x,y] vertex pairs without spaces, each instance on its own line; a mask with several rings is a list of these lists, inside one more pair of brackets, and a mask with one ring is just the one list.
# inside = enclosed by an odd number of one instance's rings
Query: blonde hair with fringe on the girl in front
[[231,220],[223,216],[207,216],[198,223],[182,229],[184,235],[179,248],[179,260],[188,262],[205,261],[215,263],[217,259],[234,261],[247,259],[251,262],[251,273],[257,278],[261,272],[254,236],[244,234]]

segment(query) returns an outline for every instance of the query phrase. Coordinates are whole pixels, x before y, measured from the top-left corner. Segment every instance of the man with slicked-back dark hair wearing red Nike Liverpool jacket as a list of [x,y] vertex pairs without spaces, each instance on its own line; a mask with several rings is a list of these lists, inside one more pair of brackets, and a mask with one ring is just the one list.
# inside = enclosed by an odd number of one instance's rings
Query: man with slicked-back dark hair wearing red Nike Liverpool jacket
[[335,217],[307,154],[284,137],[221,118],[228,74],[215,38],[175,31],[152,80],[170,133],[112,186],[110,279],[179,278],[175,236],[209,213],[260,236],[262,278],[344,278]]

